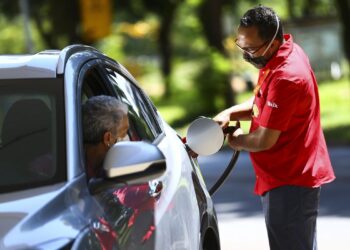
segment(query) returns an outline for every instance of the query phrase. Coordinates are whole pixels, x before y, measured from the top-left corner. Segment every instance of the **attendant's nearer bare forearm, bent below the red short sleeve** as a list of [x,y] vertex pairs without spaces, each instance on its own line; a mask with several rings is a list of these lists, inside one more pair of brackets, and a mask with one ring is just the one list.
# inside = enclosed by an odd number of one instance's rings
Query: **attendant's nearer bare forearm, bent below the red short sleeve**
[[235,150],[245,150],[249,152],[259,152],[272,148],[281,131],[259,127],[250,134],[243,134],[241,129],[235,133],[228,135],[228,144]]

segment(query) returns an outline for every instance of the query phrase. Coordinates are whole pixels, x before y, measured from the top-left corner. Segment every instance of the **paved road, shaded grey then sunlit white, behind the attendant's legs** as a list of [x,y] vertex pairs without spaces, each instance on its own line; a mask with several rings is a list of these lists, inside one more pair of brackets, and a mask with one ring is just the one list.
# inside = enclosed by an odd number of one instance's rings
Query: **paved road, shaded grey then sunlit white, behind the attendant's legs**
[[[350,250],[350,148],[330,148],[337,179],[321,191],[318,217],[319,250]],[[199,157],[210,188],[231,157],[229,149]],[[236,167],[213,198],[219,218],[222,250],[268,250],[260,204],[253,194],[254,172],[247,153],[242,152]]]

